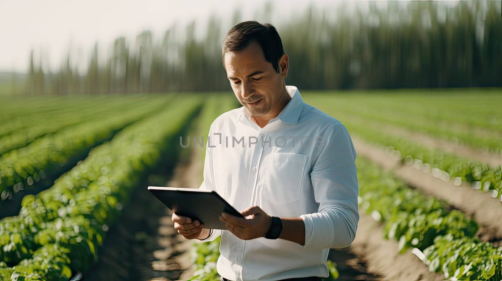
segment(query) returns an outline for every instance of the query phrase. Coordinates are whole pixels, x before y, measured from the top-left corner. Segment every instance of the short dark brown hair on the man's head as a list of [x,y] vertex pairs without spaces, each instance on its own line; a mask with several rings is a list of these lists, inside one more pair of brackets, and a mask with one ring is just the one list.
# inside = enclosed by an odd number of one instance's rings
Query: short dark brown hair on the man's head
[[273,25],[260,24],[257,21],[242,22],[227,32],[221,46],[223,67],[225,67],[226,52],[240,51],[252,42],[260,44],[265,60],[279,73],[279,59],[284,55],[281,37]]

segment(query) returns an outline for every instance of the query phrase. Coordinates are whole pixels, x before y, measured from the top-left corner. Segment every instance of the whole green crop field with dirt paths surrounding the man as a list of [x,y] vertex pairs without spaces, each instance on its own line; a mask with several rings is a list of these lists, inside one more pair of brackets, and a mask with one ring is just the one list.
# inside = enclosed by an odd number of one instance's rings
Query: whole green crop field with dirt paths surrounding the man
[[[330,250],[329,280],[502,280],[502,90],[301,95],[357,152],[358,230]],[[0,96],[0,281],[219,280],[220,238],[183,238],[146,187],[198,188],[205,148],[180,136],[240,106],[231,92]]]

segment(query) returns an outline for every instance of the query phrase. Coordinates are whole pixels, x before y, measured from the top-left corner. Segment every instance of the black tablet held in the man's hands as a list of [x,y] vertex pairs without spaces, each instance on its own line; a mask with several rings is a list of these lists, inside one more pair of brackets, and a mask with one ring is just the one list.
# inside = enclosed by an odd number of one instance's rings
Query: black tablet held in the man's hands
[[187,216],[204,224],[204,228],[227,229],[219,220],[222,212],[242,217],[234,207],[212,190],[197,188],[149,186],[152,192],[171,211],[180,216]]

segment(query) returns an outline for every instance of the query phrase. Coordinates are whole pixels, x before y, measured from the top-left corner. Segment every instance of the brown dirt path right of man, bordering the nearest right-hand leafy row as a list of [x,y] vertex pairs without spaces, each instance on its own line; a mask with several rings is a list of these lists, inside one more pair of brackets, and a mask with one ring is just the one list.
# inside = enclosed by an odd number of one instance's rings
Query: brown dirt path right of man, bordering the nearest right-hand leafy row
[[358,138],[352,138],[357,153],[379,164],[411,187],[424,193],[447,201],[450,205],[462,210],[481,226],[478,233],[484,241],[497,242],[502,239],[502,206],[499,200],[491,198],[488,192],[472,188],[471,184],[462,183],[455,186],[454,181],[445,182],[424,172],[420,166],[403,165],[400,159],[387,153],[384,149],[371,145]]

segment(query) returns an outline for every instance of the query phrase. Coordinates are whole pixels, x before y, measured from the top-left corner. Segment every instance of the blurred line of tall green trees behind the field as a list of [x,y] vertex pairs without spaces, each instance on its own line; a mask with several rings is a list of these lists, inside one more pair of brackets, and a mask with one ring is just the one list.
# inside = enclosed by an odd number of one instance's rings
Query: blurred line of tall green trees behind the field
[[[256,18],[278,29],[290,57],[288,85],[301,89],[500,87],[502,21],[500,1],[369,2],[335,10],[306,11],[284,23],[271,22],[267,3]],[[350,10],[352,9],[352,10]],[[241,21],[235,11],[231,22]],[[196,22],[167,30],[162,43],[152,33],[113,43],[101,58],[96,43],[87,73],[78,74],[70,55],[56,73],[44,73],[33,51],[26,82],[29,94],[138,93],[230,90],[221,62],[229,27],[213,16],[204,39]],[[175,40],[176,32],[185,40]],[[106,63],[104,66],[99,60]]]

